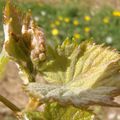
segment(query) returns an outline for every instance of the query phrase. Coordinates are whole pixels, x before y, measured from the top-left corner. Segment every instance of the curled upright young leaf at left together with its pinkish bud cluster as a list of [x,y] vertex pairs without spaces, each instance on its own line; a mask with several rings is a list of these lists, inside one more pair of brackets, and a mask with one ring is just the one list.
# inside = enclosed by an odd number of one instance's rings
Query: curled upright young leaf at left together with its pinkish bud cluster
[[13,1],[7,0],[3,12],[5,42],[8,56],[15,60],[29,81],[35,81],[34,64],[45,61],[45,37],[30,11],[22,13]]

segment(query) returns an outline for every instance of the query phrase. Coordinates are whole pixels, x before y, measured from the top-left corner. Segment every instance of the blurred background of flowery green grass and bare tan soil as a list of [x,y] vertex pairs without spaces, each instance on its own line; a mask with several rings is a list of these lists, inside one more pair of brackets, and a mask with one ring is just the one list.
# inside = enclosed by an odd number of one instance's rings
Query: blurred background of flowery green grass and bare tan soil
[[[16,2],[16,0],[14,0]],[[34,19],[43,28],[50,44],[61,43],[67,37],[79,43],[92,39],[120,50],[119,0],[18,0],[21,10],[31,9]],[[2,10],[0,0],[0,45],[3,44]],[[9,63],[0,79],[0,93],[20,107],[27,97],[21,87],[17,67]],[[120,102],[120,99],[117,98]],[[97,108],[100,120],[120,120],[120,109]],[[0,104],[0,120],[15,120],[12,112]]]

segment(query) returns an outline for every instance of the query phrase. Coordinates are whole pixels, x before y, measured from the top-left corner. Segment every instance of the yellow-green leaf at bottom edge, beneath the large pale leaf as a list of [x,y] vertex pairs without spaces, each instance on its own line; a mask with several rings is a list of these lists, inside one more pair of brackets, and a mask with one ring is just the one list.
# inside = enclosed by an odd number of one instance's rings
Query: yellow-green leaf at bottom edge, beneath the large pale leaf
[[90,111],[80,110],[72,106],[61,106],[57,103],[47,104],[44,111],[45,120],[93,120]]

